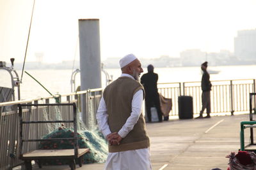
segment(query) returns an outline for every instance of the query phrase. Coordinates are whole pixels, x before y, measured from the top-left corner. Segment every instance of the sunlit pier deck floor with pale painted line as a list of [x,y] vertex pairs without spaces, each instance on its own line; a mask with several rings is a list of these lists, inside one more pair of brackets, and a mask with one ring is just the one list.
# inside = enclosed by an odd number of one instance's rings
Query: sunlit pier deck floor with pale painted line
[[[248,120],[249,115],[246,114],[147,124],[152,169],[227,169],[228,159],[225,156],[230,152],[237,152],[240,148],[240,122]],[[246,129],[247,143],[249,137],[249,130]],[[103,167],[104,164],[84,164],[83,167],[77,165],[76,169],[100,170]],[[33,169],[39,168],[34,165]],[[43,169],[70,168],[43,166]]]

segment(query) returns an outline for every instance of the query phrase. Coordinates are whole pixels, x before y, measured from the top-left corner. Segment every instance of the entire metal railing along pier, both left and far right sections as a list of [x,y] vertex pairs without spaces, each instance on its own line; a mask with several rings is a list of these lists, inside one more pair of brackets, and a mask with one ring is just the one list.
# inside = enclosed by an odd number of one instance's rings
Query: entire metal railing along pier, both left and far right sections
[[[81,114],[81,118],[90,130],[96,124],[95,115],[102,97],[103,89],[92,89],[70,94],[62,94],[44,98],[28,99],[24,101],[14,101],[0,103],[0,169],[12,169],[22,162],[19,160],[19,113],[17,104],[40,104],[40,103],[73,103],[77,105],[77,110]],[[178,97],[182,95],[193,97],[193,111],[199,113],[202,106],[200,82],[184,82],[184,83],[159,83],[158,90],[161,95],[166,98],[172,98],[172,111],[170,116],[179,114]],[[255,92],[255,80],[225,80],[212,81],[211,105],[212,113],[228,113],[249,111],[249,94]],[[255,103],[255,100],[254,100]],[[255,106],[255,104],[254,104]],[[9,110],[1,112],[1,108],[8,107]],[[63,119],[70,117],[70,108],[60,106],[60,113]],[[22,110],[25,112],[26,120],[45,120],[45,118],[54,117],[56,111],[47,107],[28,107]],[[47,113],[47,117],[44,115]],[[35,125],[34,125],[35,126]],[[50,125],[49,125],[50,126]],[[49,127],[39,127],[39,131],[33,131],[35,127],[28,125],[26,138],[40,138],[49,133]],[[50,128],[51,129],[51,128]],[[52,127],[54,129],[54,127]],[[24,146],[26,151],[34,150],[38,147],[36,144],[28,144]]]

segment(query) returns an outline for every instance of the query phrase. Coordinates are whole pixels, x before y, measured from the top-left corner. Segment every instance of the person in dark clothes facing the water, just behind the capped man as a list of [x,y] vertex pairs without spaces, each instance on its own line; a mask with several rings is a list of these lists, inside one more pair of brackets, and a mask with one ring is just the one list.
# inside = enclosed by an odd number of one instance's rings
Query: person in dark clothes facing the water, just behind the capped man
[[154,66],[148,65],[148,73],[141,76],[140,82],[145,89],[145,105],[147,111],[148,122],[151,122],[150,108],[156,107],[158,122],[163,122],[163,113],[161,111],[159,94],[157,91],[158,74],[154,73]]

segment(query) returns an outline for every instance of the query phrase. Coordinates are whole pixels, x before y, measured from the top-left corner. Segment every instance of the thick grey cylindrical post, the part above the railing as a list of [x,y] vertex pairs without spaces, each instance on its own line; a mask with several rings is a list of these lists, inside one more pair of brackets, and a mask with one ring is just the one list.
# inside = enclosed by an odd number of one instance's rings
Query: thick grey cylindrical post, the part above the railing
[[79,19],[81,90],[101,88],[99,19]]

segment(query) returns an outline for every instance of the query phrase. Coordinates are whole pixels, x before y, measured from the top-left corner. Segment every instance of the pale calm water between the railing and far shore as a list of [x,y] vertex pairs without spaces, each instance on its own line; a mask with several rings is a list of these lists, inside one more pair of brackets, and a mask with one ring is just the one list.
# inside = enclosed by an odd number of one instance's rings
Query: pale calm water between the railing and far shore
[[[147,73],[147,68],[143,68],[144,73]],[[237,79],[251,79],[256,78],[256,65],[253,66],[220,66],[211,67],[209,70],[220,71],[218,74],[211,74],[211,80],[237,80]],[[120,69],[106,69],[110,75],[113,75],[115,80],[120,76]],[[17,71],[19,77],[21,71]],[[72,74],[71,69],[53,70],[28,70],[29,74],[34,76],[36,80],[40,81],[52,94],[66,94],[71,91],[70,78]],[[159,83],[171,82],[185,82],[185,81],[201,81],[200,67],[168,67],[156,68],[155,72],[159,74]],[[143,73],[142,73],[143,74]],[[10,75],[7,71],[0,70],[0,86],[10,87]],[[79,74],[76,76],[76,85],[80,84]],[[105,76],[102,73],[102,87],[105,86]],[[20,85],[21,99],[29,99],[34,97],[49,96],[48,92],[44,90],[35,80],[28,74],[24,73],[22,84]],[[17,96],[17,95],[16,95]]]

